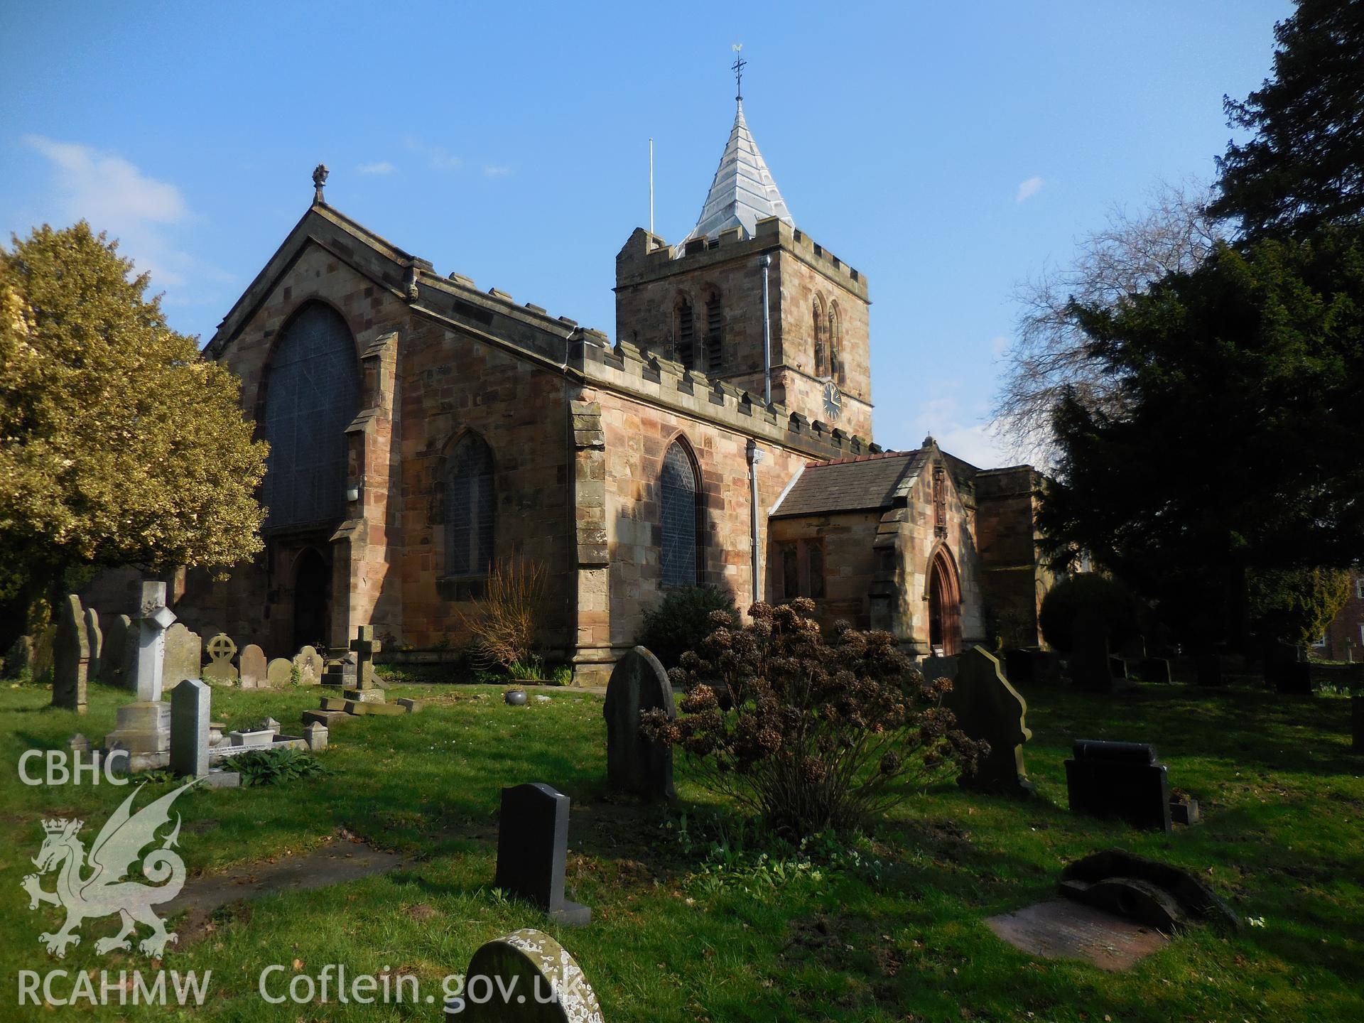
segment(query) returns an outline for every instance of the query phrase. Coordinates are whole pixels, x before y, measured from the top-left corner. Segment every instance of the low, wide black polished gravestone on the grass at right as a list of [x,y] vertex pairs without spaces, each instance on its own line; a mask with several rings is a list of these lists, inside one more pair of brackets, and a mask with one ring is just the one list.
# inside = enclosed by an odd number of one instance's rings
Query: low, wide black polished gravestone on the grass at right
[[1170,831],[1170,782],[1144,742],[1076,739],[1065,761],[1071,812]]

